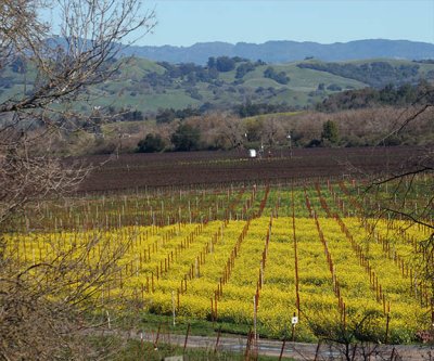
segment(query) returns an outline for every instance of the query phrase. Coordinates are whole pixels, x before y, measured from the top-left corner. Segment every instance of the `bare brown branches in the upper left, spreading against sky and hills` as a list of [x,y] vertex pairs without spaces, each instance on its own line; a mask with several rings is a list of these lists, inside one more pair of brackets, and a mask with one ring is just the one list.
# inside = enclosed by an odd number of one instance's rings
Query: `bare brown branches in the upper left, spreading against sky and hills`
[[[62,14],[61,37],[50,36],[49,25],[38,20],[47,5]],[[31,149],[41,141],[47,149],[53,132],[74,130],[79,119],[90,118],[75,104],[92,106],[89,87],[125,62],[116,60],[120,41],[154,25],[153,13],[137,15],[140,7],[138,0],[5,0],[0,5],[0,72],[17,60],[31,70],[28,88],[0,103],[0,220],[28,199],[76,185],[86,173],[65,169],[47,154],[36,158]],[[35,127],[38,131],[31,131]],[[16,177],[34,179],[34,192]]]

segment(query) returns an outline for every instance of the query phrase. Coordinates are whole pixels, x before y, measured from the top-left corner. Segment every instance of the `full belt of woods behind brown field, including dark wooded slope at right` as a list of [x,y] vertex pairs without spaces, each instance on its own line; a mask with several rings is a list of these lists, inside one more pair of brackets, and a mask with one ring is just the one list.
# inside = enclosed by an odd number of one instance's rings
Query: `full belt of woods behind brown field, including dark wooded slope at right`
[[[71,145],[76,154],[122,152],[177,152],[195,150],[241,150],[250,147],[283,149],[314,146],[425,145],[432,142],[429,116],[432,109],[399,134],[382,140],[393,120],[418,106],[433,102],[434,87],[426,81],[417,86],[387,86],[362,89],[330,96],[315,109],[294,109],[284,104],[246,102],[228,112],[187,107],[162,108],[152,121],[126,121],[140,116],[137,112],[112,109],[117,121],[104,125],[104,116],[84,124],[89,134],[85,146]],[[117,115],[115,115],[117,113]],[[93,127],[92,127],[93,125]],[[324,136],[328,125],[332,136]],[[110,131],[104,131],[110,128]],[[330,130],[332,129],[332,130]],[[92,136],[93,132],[93,136]],[[74,142],[73,142],[74,143]]]

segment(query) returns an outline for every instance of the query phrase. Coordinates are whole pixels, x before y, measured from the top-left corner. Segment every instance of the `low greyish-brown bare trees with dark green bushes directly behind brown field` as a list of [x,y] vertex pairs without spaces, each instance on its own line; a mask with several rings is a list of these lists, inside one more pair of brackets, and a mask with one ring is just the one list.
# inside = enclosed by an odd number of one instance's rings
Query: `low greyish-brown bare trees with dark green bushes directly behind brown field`
[[[427,145],[432,142],[427,109],[417,117],[405,133],[384,138],[398,117],[416,106],[344,109],[335,113],[294,112],[241,118],[233,114],[210,113],[143,127],[130,140],[130,152],[177,152],[195,150],[247,150],[261,146],[278,151],[292,147],[352,147]],[[126,147],[124,147],[126,149]]]

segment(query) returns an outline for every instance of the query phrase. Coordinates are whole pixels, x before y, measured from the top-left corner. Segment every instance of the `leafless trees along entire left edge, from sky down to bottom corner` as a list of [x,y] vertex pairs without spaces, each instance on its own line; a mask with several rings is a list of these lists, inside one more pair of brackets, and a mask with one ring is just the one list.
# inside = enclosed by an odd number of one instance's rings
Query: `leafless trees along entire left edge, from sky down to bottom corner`
[[[47,7],[61,20],[56,35],[39,16]],[[53,246],[47,261],[26,263],[11,250],[7,231],[26,205],[75,190],[89,172],[53,156],[51,140],[90,119],[76,104],[91,109],[91,86],[123,66],[126,41],[153,28],[154,13],[140,13],[141,7],[139,0],[0,3],[0,79],[11,66],[25,77],[24,87],[0,103],[0,360],[98,356],[82,332],[90,325],[85,314],[113,279],[125,244],[93,269],[86,259],[97,245],[106,246],[98,235],[67,250]]]

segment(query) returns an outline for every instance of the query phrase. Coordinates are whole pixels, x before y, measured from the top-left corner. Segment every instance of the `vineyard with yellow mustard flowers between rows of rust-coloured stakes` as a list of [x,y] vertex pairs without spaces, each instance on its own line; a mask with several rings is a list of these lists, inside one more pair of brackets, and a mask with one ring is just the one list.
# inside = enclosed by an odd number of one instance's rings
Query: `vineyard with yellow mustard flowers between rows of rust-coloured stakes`
[[140,312],[251,325],[268,337],[309,341],[356,330],[409,343],[431,324],[418,268],[430,232],[396,215],[365,217],[375,202],[354,181],[93,195],[29,209],[7,235],[7,252],[28,272],[81,261],[53,297],[84,287],[87,272],[113,259],[115,272],[86,284],[101,310],[122,300]]

